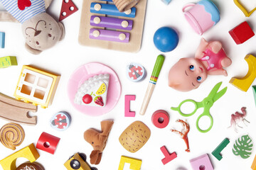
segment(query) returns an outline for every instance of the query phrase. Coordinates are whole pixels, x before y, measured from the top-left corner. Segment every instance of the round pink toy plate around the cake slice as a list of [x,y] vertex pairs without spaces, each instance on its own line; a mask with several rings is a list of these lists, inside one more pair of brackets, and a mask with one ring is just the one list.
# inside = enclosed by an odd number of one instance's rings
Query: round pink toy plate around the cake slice
[[[105,107],[100,108],[93,106],[82,106],[74,103],[75,94],[85,80],[95,76],[96,74],[105,73],[110,74],[110,83],[107,92],[107,104]],[[70,102],[78,111],[85,113],[86,115],[97,116],[108,113],[112,110],[112,108],[114,108],[114,106],[116,106],[120,95],[121,84],[117,74],[113,69],[101,63],[90,62],[78,67],[68,81],[68,98],[70,99]]]

